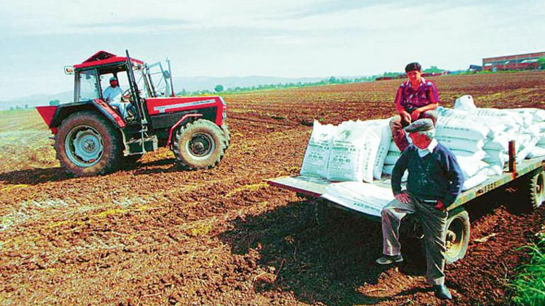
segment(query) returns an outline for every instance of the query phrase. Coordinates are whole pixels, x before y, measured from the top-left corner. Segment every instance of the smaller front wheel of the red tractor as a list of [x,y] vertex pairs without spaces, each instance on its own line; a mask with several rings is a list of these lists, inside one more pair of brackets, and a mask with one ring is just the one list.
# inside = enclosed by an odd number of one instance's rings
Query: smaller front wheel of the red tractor
[[173,151],[179,163],[195,169],[214,167],[225,151],[222,129],[209,120],[199,119],[178,129]]

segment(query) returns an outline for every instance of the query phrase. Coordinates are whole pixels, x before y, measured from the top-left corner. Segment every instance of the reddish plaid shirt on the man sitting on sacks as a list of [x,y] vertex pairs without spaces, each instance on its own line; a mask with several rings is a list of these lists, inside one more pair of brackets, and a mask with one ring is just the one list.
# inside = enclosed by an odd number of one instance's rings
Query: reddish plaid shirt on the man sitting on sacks
[[435,102],[439,103],[439,93],[437,87],[432,81],[420,78],[420,86],[417,90],[411,87],[411,82],[406,81],[401,83],[396,94],[396,104],[400,103],[407,112],[413,112],[418,107],[432,103],[432,97]]

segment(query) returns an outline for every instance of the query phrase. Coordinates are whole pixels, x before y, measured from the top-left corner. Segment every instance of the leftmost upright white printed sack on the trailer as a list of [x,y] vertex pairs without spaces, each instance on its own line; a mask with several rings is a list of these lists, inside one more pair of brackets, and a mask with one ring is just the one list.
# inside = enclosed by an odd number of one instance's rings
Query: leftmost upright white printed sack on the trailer
[[336,129],[332,124],[322,125],[314,120],[309,144],[304,153],[301,175],[327,177],[331,141]]

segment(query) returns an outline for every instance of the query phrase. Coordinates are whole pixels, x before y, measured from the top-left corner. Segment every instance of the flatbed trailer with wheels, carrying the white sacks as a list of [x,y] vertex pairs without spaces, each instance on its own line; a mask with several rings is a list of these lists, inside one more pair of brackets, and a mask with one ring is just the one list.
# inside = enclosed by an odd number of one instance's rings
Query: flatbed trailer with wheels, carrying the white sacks
[[[510,186],[516,184],[517,192],[521,199],[519,204],[520,206],[523,206],[521,208],[537,208],[545,201],[544,167],[545,160],[543,157],[515,162],[515,159],[512,158],[512,154],[510,154],[509,166],[503,170],[502,174],[490,176],[488,177],[488,180],[478,184],[476,187],[461,192],[456,201],[447,208],[449,211],[449,216],[447,218],[447,237],[445,241],[447,247],[447,264],[463,258],[469,245],[470,220],[469,214],[466,211],[466,205],[470,204],[471,200],[476,199],[479,196],[506,187],[507,184]],[[331,187],[335,183],[336,182],[330,182],[321,178],[303,175],[277,177],[268,181],[268,184],[272,186],[288,189],[311,199],[316,205],[316,218],[323,218],[319,213],[319,209],[323,209],[323,206],[325,205],[326,207],[356,212],[366,218],[380,222],[381,217],[380,215],[377,216],[377,213],[372,214],[357,211],[353,209],[354,206],[347,206],[345,204],[339,204],[324,199],[323,194],[326,194],[328,187]],[[373,184],[377,187],[390,188],[390,181],[385,177],[381,180],[374,180],[372,183],[368,184]],[[365,206],[365,203],[363,205]],[[320,222],[320,220],[317,221]]]

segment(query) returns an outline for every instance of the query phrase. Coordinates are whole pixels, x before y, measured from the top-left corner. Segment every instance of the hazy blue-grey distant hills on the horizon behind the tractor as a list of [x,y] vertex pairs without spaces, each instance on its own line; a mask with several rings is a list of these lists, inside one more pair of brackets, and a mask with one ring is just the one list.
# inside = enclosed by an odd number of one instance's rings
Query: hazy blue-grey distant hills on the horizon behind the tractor
[[[338,78],[355,78],[354,76],[335,76]],[[182,90],[197,91],[197,90],[214,90],[217,85],[222,85],[225,89],[235,87],[252,87],[259,85],[270,85],[278,83],[309,83],[317,82],[329,76],[303,77],[303,78],[284,78],[279,76],[174,76],[174,90],[179,93]],[[69,102],[74,99],[74,93],[65,91],[56,94],[36,94],[26,97],[15,98],[11,100],[0,101],[0,110],[9,110],[10,107],[36,107],[40,105],[49,105],[51,100],[60,100],[61,102]]]

